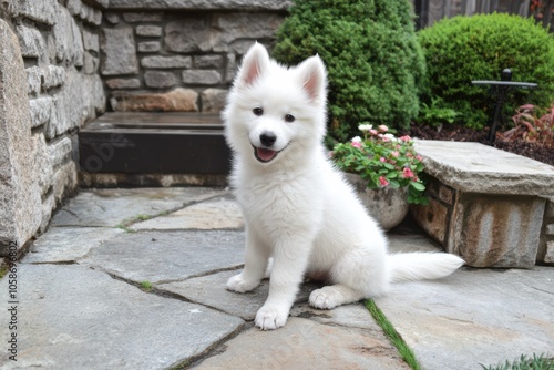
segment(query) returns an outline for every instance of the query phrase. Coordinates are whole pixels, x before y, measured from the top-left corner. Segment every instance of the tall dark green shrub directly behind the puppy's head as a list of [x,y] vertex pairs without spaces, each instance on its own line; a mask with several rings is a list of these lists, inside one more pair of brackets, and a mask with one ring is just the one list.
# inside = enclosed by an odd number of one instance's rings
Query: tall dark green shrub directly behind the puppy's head
[[273,56],[297,64],[316,53],[329,75],[329,133],[362,122],[407,127],[419,110],[424,60],[409,0],[297,0]]

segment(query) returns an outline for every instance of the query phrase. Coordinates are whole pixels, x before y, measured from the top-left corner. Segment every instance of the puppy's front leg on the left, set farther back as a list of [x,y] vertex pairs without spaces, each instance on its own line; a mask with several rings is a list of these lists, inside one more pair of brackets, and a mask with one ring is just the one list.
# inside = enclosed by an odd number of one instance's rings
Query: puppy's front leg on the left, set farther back
[[258,287],[267,268],[270,250],[253,230],[246,230],[245,266],[227,281],[227,289],[245,292]]

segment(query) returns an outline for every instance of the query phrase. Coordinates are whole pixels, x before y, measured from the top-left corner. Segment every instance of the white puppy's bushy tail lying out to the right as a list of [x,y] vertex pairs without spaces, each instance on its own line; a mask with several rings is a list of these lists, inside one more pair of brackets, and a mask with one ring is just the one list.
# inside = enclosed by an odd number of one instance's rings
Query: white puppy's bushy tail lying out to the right
[[464,260],[445,253],[406,253],[389,256],[391,281],[439,279],[455,271]]

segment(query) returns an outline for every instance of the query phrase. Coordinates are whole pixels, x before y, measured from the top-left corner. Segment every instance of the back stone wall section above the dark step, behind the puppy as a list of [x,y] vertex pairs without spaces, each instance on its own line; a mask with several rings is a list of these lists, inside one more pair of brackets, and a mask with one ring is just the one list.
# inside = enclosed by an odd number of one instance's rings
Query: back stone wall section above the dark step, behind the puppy
[[111,110],[222,110],[237,62],[255,41],[271,47],[290,1],[213,3],[111,2],[100,40]]

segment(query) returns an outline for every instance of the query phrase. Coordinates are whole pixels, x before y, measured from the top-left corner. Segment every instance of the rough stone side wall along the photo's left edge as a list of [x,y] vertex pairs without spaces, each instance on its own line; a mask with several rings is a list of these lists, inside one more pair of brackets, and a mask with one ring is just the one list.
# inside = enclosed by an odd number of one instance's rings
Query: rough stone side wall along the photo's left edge
[[43,230],[76,187],[76,133],[105,111],[99,69],[107,2],[0,2],[0,255]]

